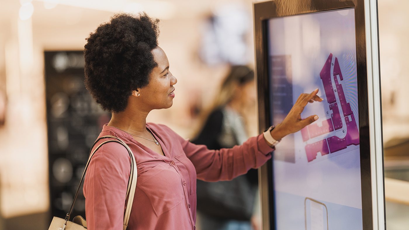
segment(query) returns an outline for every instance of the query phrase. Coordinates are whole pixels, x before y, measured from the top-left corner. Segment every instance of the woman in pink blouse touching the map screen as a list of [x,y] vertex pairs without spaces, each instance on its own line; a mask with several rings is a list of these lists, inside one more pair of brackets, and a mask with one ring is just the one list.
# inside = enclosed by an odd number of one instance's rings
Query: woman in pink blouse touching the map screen
[[[177,83],[157,44],[158,22],[146,13],[119,14],[100,25],[85,45],[85,85],[112,113],[100,136],[121,138],[135,155],[138,180],[128,230],[196,230],[196,178],[231,180],[263,165],[274,150],[270,138],[280,140],[315,121],[317,116],[302,120],[300,114],[308,101],[321,99],[318,90],[301,94],[274,129],[220,151],[146,123],[151,110],[172,106]],[[88,229],[122,229],[130,162],[117,143],[103,145],[92,157],[83,188]]]

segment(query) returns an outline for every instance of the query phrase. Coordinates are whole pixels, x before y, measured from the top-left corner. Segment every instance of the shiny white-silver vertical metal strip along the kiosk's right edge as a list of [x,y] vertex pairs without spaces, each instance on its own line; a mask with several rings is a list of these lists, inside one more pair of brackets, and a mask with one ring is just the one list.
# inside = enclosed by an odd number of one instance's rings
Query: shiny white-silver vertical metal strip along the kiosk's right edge
[[365,0],[366,65],[368,77],[369,142],[371,149],[371,187],[373,229],[384,230],[384,173],[382,111],[379,71],[377,0]]

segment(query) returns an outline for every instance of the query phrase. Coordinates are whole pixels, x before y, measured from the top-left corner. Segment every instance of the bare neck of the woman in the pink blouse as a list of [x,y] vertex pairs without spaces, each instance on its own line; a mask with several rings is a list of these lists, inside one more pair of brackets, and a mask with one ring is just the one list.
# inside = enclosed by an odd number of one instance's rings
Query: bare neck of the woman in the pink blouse
[[148,113],[137,110],[129,111],[128,109],[123,112],[112,113],[108,126],[117,127],[131,134],[143,134],[147,132],[146,116]]

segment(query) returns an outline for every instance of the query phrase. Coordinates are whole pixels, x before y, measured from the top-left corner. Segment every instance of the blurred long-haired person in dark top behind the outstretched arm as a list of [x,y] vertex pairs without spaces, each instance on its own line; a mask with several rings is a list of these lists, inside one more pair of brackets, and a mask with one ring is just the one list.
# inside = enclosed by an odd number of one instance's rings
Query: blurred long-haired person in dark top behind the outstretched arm
[[[254,71],[243,65],[232,66],[192,143],[210,150],[243,144],[249,138],[244,117],[254,110],[255,102]],[[253,217],[257,187],[256,169],[231,181],[198,180],[201,230],[258,230],[259,217]]]

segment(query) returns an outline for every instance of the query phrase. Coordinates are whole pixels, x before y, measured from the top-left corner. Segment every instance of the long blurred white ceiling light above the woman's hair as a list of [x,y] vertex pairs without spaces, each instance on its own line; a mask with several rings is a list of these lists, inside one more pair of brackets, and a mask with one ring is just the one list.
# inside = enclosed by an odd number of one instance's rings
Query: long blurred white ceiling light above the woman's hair
[[[22,0],[23,1],[23,0]],[[146,11],[149,16],[159,19],[170,19],[176,15],[174,2],[163,0],[37,0],[43,2],[58,2],[57,4],[119,13],[138,13]],[[48,4],[48,3],[47,3]]]

